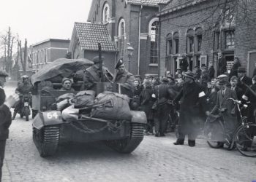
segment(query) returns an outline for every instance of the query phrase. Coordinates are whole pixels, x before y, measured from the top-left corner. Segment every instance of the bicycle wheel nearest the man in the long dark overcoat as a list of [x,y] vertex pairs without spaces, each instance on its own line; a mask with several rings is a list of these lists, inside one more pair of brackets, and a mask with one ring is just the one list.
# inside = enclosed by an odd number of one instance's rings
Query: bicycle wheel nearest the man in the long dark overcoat
[[225,129],[221,122],[206,122],[204,126],[204,135],[211,148],[219,149],[223,147]]

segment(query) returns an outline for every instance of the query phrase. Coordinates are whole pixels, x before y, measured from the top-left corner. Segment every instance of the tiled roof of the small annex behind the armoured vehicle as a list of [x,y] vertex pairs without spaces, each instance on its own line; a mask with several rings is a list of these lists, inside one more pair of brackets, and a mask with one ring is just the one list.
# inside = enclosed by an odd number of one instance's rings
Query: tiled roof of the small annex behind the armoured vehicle
[[106,25],[76,22],[75,30],[83,50],[98,50],[98,43],[101,43],[102,51],[116,52]]

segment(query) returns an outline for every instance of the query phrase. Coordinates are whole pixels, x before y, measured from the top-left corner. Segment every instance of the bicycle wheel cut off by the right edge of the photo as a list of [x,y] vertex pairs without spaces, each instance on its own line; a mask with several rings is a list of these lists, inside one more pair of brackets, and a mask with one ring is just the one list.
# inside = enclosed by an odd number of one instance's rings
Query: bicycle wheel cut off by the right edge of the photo
[[246,157],[256,157],[256,124],[240,127],[235,136],[236,149]]

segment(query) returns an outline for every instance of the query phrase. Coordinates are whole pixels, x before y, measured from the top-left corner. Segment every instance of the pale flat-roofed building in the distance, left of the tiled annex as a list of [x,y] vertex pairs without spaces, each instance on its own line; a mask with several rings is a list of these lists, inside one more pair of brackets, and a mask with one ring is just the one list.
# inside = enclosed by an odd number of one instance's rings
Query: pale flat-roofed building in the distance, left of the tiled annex
[[31,57],[33,71],[38,71],[45,64],[59,58],[65,58],[69,50],[70,40],[47,39],[33,44],[31,48]]

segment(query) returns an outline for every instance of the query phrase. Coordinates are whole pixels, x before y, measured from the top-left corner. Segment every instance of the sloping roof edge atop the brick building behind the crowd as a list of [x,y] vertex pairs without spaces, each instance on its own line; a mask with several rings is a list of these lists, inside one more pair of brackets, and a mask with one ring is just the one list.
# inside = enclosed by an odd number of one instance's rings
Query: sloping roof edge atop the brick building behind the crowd
[[200,4],[203,1],[208,0],[173,0],[170,1],[157,15],[165,15],[170,12],[176,12],[179,9],[184,9],[186,7],[194,6],[196,4]]

